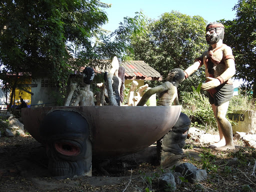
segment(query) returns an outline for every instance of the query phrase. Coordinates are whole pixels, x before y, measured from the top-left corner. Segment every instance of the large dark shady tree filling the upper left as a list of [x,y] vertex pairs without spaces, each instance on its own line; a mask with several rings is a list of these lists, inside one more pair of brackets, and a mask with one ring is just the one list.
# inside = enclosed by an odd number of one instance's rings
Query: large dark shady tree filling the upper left
[[[70,69],[95,57],[91,39],[107,21],[102,7],[110,5],[98,0],[1,0],[0,79],[14,90],[18,74],[29,72],[34,78],[47,74],[65,86]],[[72,59],[67,42],[82,47],[82,59]]]

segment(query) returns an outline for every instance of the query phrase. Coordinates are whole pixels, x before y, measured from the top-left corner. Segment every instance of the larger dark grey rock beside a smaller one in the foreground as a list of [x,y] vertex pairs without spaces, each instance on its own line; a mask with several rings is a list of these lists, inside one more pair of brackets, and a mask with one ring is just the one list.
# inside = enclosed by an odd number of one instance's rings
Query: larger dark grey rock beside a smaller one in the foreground
[[185,162],[175,167],[175,171],[181,173],[189,182],[201,181],[207,178],[206,170],[199,169],[193,164]]

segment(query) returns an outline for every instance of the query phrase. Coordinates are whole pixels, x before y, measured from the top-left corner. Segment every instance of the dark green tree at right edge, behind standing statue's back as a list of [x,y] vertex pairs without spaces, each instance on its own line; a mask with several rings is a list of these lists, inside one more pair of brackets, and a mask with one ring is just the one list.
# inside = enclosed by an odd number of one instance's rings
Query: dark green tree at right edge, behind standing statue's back
[[247,89],[256,97],[256,0],[238,0],[233,7],[236,17],[221,20],[225,26],[224,42],[232,48],[235,56],[236,78],[247,80]]

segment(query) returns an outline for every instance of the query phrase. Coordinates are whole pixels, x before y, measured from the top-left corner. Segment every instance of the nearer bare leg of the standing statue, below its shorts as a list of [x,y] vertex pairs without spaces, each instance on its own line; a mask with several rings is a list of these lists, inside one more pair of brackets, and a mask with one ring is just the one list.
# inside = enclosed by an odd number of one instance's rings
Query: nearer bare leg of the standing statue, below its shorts
[[229,101],[216,106],[216,120],[218,124],[218,130],[219,130],[219,133],[223,135],[225,140],[225,144],[223,146],[217,146],[215,148],[216,150],[220,150],[220,151],[234,149],[232,126],[228,121],[228,119],[226,118],[226,111],[228,108],[228,104],[229,104]]

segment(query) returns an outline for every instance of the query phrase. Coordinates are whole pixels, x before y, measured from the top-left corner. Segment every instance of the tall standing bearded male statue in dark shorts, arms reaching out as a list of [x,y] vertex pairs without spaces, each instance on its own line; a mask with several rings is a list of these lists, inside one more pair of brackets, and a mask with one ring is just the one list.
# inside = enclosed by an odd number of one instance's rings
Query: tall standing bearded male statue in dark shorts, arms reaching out
[[205,66],[206,82],[201,85],[207,90],[214,116],[217,120],[220,140],[209,145],[210,148],[224,151],[234,149],[232,126],[226,119],[229,100],[233,95],[233,85],[230,78],[235,73],[234,56],[232,50],[223,44],[224,26],[220,22],[210,22],[206,26],[205,38],[210,44],[208,50],[195,59],[195,62],[185,71],[185,78],[196,71],[200,66]]

